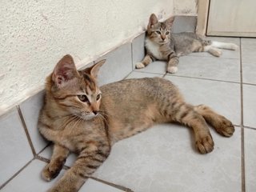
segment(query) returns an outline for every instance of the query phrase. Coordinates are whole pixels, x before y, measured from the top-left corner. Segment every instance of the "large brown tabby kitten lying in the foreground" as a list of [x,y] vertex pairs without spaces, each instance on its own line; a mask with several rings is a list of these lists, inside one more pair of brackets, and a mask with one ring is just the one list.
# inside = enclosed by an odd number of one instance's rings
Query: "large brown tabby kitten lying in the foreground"
[[42,178],[55,178],[70,151],[78,154],[74,165],[48,191],[78,191],[105,161],[115,142],[154,123],[180,122],[191,127],[195,146],[202,154],[214,150],[206,122],[226,137],[234,133],[229,120],[208,106],[187,104],[178,88],[164,78],[128,79],[99,88],[96,78],[104,62],[78,71],[73,58],[66,55],[46,78],[38,128],[54,142],[54,150]]

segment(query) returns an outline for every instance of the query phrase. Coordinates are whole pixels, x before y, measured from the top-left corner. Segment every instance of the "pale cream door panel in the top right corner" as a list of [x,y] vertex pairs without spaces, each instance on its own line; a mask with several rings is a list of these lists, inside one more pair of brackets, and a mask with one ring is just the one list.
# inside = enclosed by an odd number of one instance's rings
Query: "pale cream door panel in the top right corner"
[[210,0],[206,34],[256,37],[256,0]]

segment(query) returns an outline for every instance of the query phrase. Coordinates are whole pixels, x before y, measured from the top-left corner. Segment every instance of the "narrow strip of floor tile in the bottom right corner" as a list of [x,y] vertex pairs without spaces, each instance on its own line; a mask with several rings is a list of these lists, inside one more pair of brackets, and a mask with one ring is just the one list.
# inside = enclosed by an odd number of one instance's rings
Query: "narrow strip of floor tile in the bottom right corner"
[[256,191],[256,130],[245,129],[246,192]]

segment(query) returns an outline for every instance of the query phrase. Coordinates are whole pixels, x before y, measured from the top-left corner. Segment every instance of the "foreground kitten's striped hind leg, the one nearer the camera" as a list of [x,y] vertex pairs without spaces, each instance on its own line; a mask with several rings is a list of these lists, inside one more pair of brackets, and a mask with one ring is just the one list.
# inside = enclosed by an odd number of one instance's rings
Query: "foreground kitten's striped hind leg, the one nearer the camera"
[[176,104],[175,102],[172,110],[174,111],[173,121],[180,122],[194,130],[195,146],[201,154],[214,150],[214,141],[209,127],[202,115],[194,110],[194,106],[186,103]]

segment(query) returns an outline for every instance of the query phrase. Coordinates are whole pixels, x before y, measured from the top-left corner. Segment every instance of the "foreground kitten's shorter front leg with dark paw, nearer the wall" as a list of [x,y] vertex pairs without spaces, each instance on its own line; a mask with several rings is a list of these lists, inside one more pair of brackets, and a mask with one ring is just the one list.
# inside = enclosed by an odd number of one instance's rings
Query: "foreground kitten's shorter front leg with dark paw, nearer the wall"
[[42,178],[47,182],[50,182],[53,178],[56,178],[59,172],[62,170],[62,166],[66,162],[66,158],[69,155],[69,150],[58,144],[54,145],[53,154],[50,158],[50,162],[42,170]]

